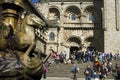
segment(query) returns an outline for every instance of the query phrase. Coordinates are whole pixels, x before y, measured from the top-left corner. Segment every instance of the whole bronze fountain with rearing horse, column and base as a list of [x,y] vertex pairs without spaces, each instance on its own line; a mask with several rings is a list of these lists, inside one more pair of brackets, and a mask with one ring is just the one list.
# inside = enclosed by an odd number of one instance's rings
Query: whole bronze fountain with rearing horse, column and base
[[22,0],[2,0],[0,6],[0,79],[40,80],[43,61],[33,51],[35,28],[41,29],[45,22],[32,13],[21,18]]

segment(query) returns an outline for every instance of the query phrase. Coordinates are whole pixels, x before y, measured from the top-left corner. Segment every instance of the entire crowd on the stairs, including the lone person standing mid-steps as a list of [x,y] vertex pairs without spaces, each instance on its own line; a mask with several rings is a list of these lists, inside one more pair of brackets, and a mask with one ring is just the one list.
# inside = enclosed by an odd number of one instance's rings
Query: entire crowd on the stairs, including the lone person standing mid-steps
[[[88,65],[84,71],[84,75],[86,76],[86,80],[91,80],[93,77],[95,80],[105,80],[106,76],[112,70],[112,60],[119,60],[120,55],[119,53],[102,53],[97,51],[74,51],[69,59],[66,59],[66,52],[61,52],[57,54],[56,52],[51,53],[51,59],[47,62],[47,69],[51,64],[54,63],[64,63],[64,64],[74,64],[74,61],[79,62],[92,62],[92,68]],[[74,69],[76,71],[74,71]],[[79,68],[75,68],[77,66],[72,67],[72,72],[74,73],[74,78],[76,77],[76,73],[78,72]]]

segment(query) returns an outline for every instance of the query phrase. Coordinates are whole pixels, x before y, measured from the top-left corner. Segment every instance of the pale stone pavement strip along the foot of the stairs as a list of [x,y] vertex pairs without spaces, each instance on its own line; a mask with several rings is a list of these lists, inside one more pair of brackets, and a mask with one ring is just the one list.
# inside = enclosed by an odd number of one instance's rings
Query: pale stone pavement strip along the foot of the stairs
[[[47,77],[46,79],[41,79],[41,80],[73,80],[73,79],[66,77]],[[85,80],[85,78],[77,78],[77,80]],[[105,79],[105,80],[114,80],[114,79]]]

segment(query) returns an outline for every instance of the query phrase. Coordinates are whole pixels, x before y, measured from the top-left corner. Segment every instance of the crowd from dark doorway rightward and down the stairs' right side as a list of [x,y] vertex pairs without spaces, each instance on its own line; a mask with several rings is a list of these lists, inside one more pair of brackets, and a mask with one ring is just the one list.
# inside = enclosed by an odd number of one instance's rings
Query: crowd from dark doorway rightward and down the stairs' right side
[[[95,51],[75,52],[74,58],[78,61],[93,62],[93,68],[90,65],[84,71],[85,80],[105,80],[106,76],[112,71],[112,60],[119,60],[119,53],[102,53]],[[120,76],[120,75],[118,75]]]

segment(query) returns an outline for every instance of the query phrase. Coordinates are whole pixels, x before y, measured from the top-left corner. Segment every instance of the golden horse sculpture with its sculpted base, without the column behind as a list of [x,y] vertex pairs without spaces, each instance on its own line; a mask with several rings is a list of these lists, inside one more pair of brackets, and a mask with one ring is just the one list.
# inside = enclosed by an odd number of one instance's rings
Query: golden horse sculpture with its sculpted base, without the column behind
[[[6,48],[8,50],[5,52],[0,51],[0,62],[2,62],[2,66],[0,66],[0,76],[15,76],[17,73],[20,73],[23,77],[32,77],[26,80],[32,80],[33,78],[33,80],[39,80],[43,70],[43,61],[32,51],[36,44],[35,28],[43,28],[46,26],[45,22],[36,15],[29,14],[25,16],[21,24],[17,25],[19,30],[15,31],[10,24],[4,24],[4,27],[6,27],[4,32],[6,33],[4,36],[0,35],[0,41],[2,41],[0,45],[3,45],[1,48]],[[17,58],[14,60],[16,62],[8,60],[11,56],[12,58]],[[18,64],[18,62],[20,63]],[[21,70],[16,70],[15,66],[20,66],[20,68],[17,69]],[[6,75],[8,72],[10,74]],[[23,77],[16,80],[21,80]]]

